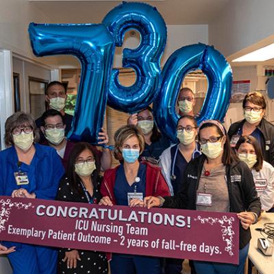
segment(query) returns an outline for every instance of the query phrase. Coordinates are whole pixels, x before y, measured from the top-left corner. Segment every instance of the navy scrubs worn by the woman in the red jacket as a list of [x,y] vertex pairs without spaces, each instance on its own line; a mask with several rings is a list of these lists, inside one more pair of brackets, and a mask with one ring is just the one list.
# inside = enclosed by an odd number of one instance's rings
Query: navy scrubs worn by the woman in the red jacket
[[[119,206],[128,206],[127,193],[128,192],[142,192],[142,197],[145,197],[146,188],[146,172],[147,166],[141,164],[139,166],[137,176],[140,182],[134,182],[132,186],[127,183],[125,177],[125,170],[123,164],[116,172],[114,184],[114,196],[116,203]],[[128,254],[112,253],[112,260],[110,261],[110,269],[112,274],[160,274],[161,266],[160,259],[149,256],[134,256]]]

